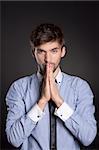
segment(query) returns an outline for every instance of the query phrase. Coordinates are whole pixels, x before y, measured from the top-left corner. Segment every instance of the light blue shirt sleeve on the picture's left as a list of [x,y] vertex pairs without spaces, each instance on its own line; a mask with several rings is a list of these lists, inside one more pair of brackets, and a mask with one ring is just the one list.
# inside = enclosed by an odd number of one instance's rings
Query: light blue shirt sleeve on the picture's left
[[[28,113],[26,112],[24,107],[25,106],[24,92],[26,86],[27,86],[27,78],[25,78],[24,81],[19,79],[18,81],[15,81],[11,85],[6,95],[8,114],[6,119],[5,131],[6,131],[8,142],[15,147],[21,146],[21,144],[25,141],[25,139],[31,135],[33,129],[37,125],[37,123],[35,122],[36,120],[33,121],[29,117],[31,115],[33,116],[37,115],[38,112],[36,111],[37,106],[35,106],[36,108],[34,107],[34,109],[29,111]],[[35,113],[33,113],[33,110]],[[39,112],[38,115],[40,115]]]

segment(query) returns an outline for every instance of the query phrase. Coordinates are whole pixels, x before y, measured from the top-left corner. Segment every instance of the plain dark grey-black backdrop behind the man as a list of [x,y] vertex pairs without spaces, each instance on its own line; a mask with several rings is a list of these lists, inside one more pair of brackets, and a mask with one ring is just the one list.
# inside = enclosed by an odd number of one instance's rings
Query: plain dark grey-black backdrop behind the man
[[[99,3],[98,2],[2,2],[1,51],[1,148],[15,149],[5,134],[5,96],[11,83],[36,70],[31,56],[29,36],[32,28],[43,22],[55,23],[64,31],[68,54],[62,70],[82,77],[94,92],[95,117],[99,120]],[[86,114],[87,115],[87,114]],[[84,149],[99,149],[99,133]]]

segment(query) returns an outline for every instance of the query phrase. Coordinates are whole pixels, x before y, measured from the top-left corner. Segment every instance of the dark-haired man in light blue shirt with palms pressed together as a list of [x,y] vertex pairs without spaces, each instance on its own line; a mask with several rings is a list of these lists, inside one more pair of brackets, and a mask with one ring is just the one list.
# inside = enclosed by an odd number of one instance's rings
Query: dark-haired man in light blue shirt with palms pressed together
[[15,81],[6,96],[8,141],[21,150],[79,150],[96,136],[93,93],[86,81],[61,71],[64,36],[41,24],[30,37],[37,73]]

